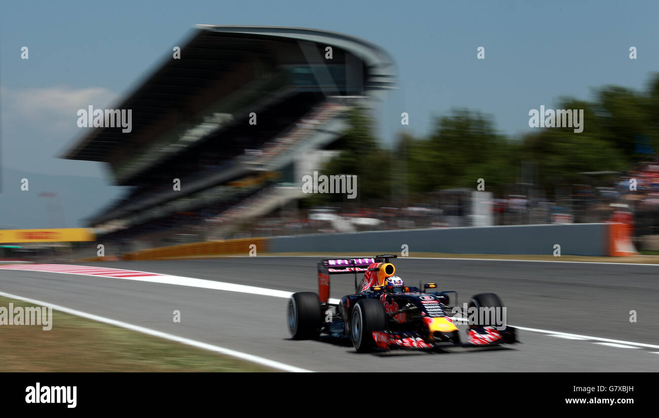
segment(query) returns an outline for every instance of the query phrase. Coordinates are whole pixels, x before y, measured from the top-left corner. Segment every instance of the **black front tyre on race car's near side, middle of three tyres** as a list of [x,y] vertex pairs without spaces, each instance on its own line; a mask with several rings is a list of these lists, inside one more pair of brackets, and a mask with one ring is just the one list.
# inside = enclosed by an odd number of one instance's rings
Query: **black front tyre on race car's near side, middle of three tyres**
[[387,313],[382,302],[376,299],[362,299],[353,307],[350,322],[350,337],[358,353],[368,353],[375,350],[373,331],[381,331],[387,327]]

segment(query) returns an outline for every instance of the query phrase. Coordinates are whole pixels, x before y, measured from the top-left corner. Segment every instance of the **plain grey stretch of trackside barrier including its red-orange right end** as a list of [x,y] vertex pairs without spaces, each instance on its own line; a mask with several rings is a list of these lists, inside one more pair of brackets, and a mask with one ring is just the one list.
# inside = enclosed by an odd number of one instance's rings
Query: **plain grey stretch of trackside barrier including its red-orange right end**
[[[629,255],[612,251],[612,240],[628,240],[629,230],[616,224],[547,224],[432,228],[312,234],[270,238],[270,252],[355,252],[400,253],[407,244],[409,253],[545,254],[553,255],[558,244],[561,255]],[[615,231],[615,234],[612,233]],[[627,238],[615,238],[627,234]],[[631,242],[631,241],[629,241]],[[635,250],[634,250],[635,251]]]

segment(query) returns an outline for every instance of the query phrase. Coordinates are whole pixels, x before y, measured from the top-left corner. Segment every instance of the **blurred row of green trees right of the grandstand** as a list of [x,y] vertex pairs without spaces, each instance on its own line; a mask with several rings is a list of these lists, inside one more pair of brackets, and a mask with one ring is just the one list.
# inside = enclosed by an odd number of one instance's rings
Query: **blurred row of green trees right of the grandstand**
[[[445,188],[475,188],[478,178],[485,179],[488,190],[503,192],[519,181],[526,164],[535,167],[536,186],[551,193],[583,182],[581,172],[625,172],[659,151],[659,73],[644,90],[604,86],[594,90],[592,101],[561,97],[556,109],[583,109],[583,132],[538,128],[509,138],[490,117],[453,109],[433,120],[428,136],[400,134],[391,149],[374,136],[368,113],[355,109],[336,144],[341,151],[323,172],[356,174],[359,199],[365,202],[389,199],[392,190],[415,199]],[[320,194],[306,200],[322,205],[343,196]]]

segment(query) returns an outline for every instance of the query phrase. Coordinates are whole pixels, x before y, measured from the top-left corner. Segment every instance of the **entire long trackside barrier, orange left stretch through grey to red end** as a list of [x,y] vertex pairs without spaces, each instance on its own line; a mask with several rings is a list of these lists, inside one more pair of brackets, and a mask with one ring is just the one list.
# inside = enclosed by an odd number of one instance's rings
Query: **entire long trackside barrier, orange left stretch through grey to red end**
[[[544,254],[553,255],[556,244],[561,255],[633,255],[631,227],[626,224],[547,224],[432,228],[310,234],[273,238],[195,242],[144,249],[123,255],[125,260],[162,260],[217,255],[263,253],[400,253],[407,245],[414,253]],[[101,259],[108,259],[103,257]],[[101,260],[99,259],[99,260]]]

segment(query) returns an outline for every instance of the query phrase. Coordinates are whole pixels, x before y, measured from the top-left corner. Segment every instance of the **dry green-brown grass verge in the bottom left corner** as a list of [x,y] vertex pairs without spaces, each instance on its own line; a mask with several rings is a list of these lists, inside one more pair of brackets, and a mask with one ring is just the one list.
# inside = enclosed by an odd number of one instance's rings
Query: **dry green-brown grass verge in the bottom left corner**
[[[0,307],[34,306],[0,296]],[[262,372],[228,355],[53,310],[53,327],[0,325],[3,372]]]

